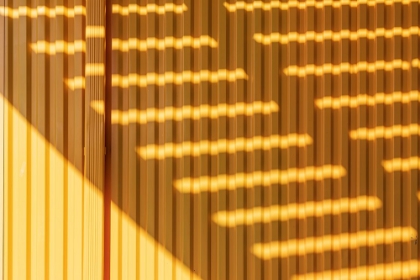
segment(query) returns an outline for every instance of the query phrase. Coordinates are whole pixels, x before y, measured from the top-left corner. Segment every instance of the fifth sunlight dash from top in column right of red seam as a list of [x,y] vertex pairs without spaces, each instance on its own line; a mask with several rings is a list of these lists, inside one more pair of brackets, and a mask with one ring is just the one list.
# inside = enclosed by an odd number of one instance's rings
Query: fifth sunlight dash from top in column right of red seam
[[184,156],[217,155],[220,153],[252,152],[254,150],[286,149],[291,146],[303,147],[312,143],[308,134],[255,136],[252,138],[236,138],[234,140],[167,143],[164,145],[147,145],[137,149],[143,159],[181,158]]

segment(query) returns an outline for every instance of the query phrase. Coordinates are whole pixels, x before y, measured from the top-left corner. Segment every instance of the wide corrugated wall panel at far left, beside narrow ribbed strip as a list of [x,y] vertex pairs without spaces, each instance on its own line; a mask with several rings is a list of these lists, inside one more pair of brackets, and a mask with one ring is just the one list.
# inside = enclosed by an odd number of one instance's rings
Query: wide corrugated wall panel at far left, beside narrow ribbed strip
[[5,1],[0,17],[4,279],[83,279],[85,3]]

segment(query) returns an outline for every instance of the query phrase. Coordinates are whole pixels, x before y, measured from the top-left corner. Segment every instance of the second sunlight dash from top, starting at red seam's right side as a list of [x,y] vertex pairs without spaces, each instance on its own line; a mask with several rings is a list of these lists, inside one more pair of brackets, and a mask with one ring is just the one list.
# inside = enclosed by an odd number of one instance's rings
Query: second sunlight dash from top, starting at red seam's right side
[[146,51],[148,49],[164,50],[166,48],[182,49],[184,47],[200,48],[201,46],[217,48],[217,42],[207,35],[197,38],[184,36],[182,38],[165,37],[164,39],[149,37],[146,40],[138,38],[112,39],[112,49],[122,52],[128,52],[129,50]]

